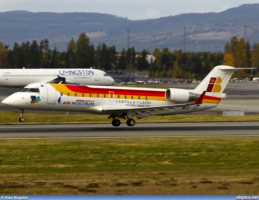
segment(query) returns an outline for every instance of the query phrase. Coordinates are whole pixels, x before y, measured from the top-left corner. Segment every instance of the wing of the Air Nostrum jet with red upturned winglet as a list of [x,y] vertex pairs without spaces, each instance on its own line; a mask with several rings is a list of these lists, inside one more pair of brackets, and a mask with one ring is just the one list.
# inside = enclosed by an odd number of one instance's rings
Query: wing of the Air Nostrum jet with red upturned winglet
[[[125,113],[128,117],[136,116],[138,119],[143,119],[151,117],[152,115],[164,114],[167,112],[176,111],[176,108],[183,107],[186,105],[197,105],[202,104],[202,100],[205,96],[204,91],[202,95],[197,99],[195,103],[184,103],[184,104],[175,104],[175,105],[164,105],[164,106],[155,106],[155,107],[134,107],[134,108],[102,108],[103,112],[113,112],[114,114],[121,114],[121,118],[125,118]],[[110,116],[111,117],[111,116]],[[109,118],[109,117],[108,117]],[[125,118],[126,119],[126,118]]]

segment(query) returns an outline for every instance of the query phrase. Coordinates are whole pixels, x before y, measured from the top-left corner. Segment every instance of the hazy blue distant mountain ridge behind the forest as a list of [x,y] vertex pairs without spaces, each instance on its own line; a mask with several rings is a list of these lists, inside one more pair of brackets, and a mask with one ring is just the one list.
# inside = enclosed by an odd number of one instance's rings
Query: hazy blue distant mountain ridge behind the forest
[[66,51],[72,37],[85,32],[95,44],[115,45],[117,51],[127,47],[127,28],[130,46],[136,50],[168,47],[170,51],[183,49],[183,26],[186,26],[187,51],[223,51],[224,44],[236,35],[259,42],[259,4],[243,4],[215,13],[189,13],[158,19],[129,20],[100,13],[28,12],[24,10],[0,12],[0,41],[13,43],[49,39],[51,49],[57,46]]

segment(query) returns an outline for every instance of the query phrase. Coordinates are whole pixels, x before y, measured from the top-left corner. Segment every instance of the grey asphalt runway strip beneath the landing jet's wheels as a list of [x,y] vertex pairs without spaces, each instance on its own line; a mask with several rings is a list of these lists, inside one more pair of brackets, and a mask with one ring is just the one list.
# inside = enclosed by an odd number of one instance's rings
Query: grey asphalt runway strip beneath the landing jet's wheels
[[259,137],[258,130],[259,122],[4,125],[0,140]]

